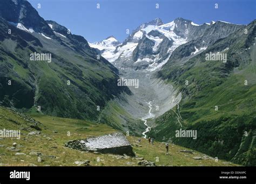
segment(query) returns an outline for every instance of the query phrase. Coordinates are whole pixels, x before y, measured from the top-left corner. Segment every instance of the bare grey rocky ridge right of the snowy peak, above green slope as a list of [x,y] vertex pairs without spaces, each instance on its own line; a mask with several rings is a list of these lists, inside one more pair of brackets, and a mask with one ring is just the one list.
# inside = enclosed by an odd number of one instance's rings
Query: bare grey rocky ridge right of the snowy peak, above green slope
[[175,60],[184,60],[186,57],[204,51],[207,46],[213,44],[218,39],[225,38],[244,27],[244,25],[236,25],[223,21],[212,21],[211,24],[197,25],[183,18],[175,19],[173,24],[173,31],[188,40],[186,44],[181,45],[174,51],[170,58],[173,62]]

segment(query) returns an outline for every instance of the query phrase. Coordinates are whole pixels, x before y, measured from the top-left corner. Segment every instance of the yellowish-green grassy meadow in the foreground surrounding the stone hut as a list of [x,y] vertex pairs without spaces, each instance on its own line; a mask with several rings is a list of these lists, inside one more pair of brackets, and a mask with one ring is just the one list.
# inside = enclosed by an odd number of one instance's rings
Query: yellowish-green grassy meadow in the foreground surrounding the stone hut
[[[19,124],[18,120],[14,119],[15,116],[9,114],[8,110],[3,110],[1,107],[0,110],[1,129],[8,129],[8,122],[16,121],[16,125],[9,127],[13,130]],[[138,166],[138,162],[142,158],[155,162],[156,166],[237,166],[224,160],[215,161],[214,158],[196,151],[193,153],[180,152],[184,149],[191,151],[191,149],[172,144],[169,146],[170,154],[166,155],[164,143],[156,141],[154,145],[150,145],[149,141],[143,138],[140,138],[141,142],[139,143],[138,137],[127,137],[132,144],[133,152],[136,153],[134,158],[81,152],[66,148],[64,144],[69,140],[108,134],[116,132],[116,130],[104,124],[95,124],[84,120],[43,115],[34,115],[33,118],[43,125],[40,134],[28,135],[30,132],[25,130],[22,131],[23,134],[19,140],[0,139],[0,166],[77,166],[76,161],[84,160],[90,160],[91,166]],[[18,152],[8,149],[14,142],[17,143]],[[32,154],[35,152],[42,154],[41,162],[38,161],[37,155]],[[200,160],[196,160],[195,157]]]

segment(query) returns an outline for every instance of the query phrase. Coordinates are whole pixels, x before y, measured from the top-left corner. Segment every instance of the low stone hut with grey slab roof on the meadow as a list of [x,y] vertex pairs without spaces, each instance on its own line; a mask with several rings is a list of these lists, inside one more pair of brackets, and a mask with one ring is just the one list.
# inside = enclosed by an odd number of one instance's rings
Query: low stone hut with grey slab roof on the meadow
[[135,156],[130,142],[122,133],[112,133],[82,140],[71,140],[65,144],[65,147],[80,151]]

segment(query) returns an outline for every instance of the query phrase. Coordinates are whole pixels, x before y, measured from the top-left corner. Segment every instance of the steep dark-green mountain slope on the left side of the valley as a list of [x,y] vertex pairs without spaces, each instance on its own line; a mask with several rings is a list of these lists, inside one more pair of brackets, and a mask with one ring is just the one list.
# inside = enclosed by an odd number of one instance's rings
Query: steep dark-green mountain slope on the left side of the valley
[[[29,2],[1,1],[0,16],[2,105],[97,120],[107,101],[130,94],[126,86],[117,86],[118,70],[97,59],[82,36],[45,21]],[[33,53],[40,57],[32,60]]]

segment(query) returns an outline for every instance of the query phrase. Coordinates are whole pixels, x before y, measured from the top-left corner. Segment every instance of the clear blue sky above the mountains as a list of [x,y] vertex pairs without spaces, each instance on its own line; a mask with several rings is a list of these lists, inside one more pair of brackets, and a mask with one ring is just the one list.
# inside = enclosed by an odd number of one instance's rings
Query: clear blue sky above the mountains
[[[255,19],[255,0],[29,0],[39,15],[56,21],[82,35],[89,42],[96,42],[113,35],[123,41],[126,29],[131,31],[154,18],[169,23],[177,17],[202,24],[226,21],[248,24]],[[97,3],[100,9],[97,9]],[[156,3],[159,9],[156,9]],[[218,3],[218,9],[214,8]]]

